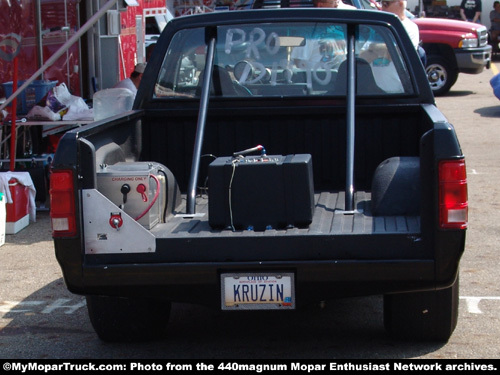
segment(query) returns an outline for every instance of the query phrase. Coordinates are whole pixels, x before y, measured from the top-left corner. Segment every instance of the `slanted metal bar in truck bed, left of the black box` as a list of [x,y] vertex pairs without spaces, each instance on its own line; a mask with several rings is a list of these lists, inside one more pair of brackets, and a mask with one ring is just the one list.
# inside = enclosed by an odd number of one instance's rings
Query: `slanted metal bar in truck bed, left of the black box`
[[208,99],[210,97],[210,81],[212,80],[212,70],[215,55],[215,36],[212,36],[208,43],[207,57],[205,61],[205,72],[201,88],[200,110],[198,114],[198,124],[196,128],[196,139],[193,151],[193,161],[191,163],[191,175],[187,191],[186,213],[194,215],[196,213],[196,185],[200,172],[201,149],[205,135],[205,124],[207,118]]

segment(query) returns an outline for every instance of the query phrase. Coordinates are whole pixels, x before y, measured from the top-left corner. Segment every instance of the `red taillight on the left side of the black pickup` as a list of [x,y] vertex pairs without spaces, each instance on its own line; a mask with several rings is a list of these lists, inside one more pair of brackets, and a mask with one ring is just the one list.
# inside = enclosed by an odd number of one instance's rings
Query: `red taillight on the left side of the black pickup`
[[50,218],[52,236],[76,234],[73,171],[53,170],[50,175]]

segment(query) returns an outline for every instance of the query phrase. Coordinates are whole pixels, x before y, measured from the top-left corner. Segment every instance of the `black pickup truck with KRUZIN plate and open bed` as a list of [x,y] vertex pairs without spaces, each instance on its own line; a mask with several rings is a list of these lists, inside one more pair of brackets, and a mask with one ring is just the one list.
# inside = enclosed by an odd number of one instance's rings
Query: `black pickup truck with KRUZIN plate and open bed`
[[392,14],[175,19],[134,109],[66,133],[50,183],[57,260],[103,340],[163,335],[172,302],[383,295],[395,337],[457,324],[464,155]]

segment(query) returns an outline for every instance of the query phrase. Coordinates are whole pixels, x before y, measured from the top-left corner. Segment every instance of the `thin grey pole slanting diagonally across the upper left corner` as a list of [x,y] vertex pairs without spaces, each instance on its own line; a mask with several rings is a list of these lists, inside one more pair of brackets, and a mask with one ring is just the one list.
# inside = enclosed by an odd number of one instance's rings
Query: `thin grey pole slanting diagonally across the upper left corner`
[[40,74],[42,74],[49,66],[57,61],[59,57],[61,57],[80,37],[85,34],[98,20],[101,18],[111,7],[113,7],[118,0],[109,0],[104,6],[99,9],[99,11],[94,14],[85,24],[75,33],[66,43],[64,43],[61,48],[59,48],[55,54],[53,54],[43,66],[38,69],[29,79],[27,79],[21,87],[19,87],[16,92],[14,92],[11,96],[5,100],[5,102],[0,105],[0,111],[7,107],[7,105],[14,100],[23,90],[28,87],[31,82],[33,82]]

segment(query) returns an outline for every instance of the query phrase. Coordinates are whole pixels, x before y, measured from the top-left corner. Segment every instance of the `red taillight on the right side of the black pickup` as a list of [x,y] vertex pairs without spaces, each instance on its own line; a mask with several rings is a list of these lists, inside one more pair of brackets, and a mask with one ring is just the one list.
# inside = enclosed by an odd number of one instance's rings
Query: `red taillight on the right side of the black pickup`
[[439,226],[465,229],[468,221],[467,173],[465,161],[439,163]]

